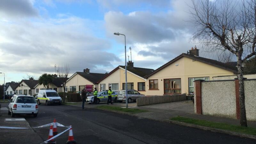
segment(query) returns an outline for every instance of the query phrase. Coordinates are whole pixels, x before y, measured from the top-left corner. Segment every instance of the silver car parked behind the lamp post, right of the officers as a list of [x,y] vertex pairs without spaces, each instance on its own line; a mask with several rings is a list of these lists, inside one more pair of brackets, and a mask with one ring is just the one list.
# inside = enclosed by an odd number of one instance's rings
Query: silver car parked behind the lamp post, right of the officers
[[[144,94],[140,94],[140,92],[135,90],[127,90],[128,102],[136,101],[138,98],[145,96]],[[121,90],[118,92],[117,96],[118,102],[123,102],[126,100],[125,90]]]

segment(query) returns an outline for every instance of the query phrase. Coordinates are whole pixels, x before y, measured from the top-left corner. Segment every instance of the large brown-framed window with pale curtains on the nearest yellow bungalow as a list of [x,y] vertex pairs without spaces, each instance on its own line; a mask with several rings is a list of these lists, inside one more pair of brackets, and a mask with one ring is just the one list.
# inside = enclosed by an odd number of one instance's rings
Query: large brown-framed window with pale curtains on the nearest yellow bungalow
[[164,79],[164,94],[181,93],[181,79]]

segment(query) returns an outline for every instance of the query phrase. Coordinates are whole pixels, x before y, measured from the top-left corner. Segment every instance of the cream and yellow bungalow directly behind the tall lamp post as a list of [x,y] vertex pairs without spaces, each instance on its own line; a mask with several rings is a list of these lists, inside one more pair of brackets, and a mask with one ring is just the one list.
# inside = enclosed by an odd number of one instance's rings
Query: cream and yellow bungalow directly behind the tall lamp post
[[[133,62],[127,63],[127,89],[134,89],[142,94],[146,93],[144,76],[152,73],[154,69],[133,67]],[[106,76],[99,80],[99,90],[108,90],[118,92],[125,89],[125,66],[118,66]]]

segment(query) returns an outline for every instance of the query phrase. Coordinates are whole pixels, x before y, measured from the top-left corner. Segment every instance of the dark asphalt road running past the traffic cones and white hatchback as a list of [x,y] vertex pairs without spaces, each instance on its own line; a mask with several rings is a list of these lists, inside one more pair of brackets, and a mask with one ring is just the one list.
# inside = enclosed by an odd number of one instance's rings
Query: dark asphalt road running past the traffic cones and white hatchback
[[[74,138],[79,144],[256,143],[252,139],[218,132],[204,131],[97,109],[82,110],[82,108],[74,106],[40,105],[39,114],[36,118],[33,116],[25,116],[25,118],[31,127],[52,123],[53,118],[56,118],[60,124],[72,125]],[[58,127],[58,132],[64,130],[65,128]],[[34,131],[43,140],[47,140],[49,127],[34,129]],[[66,143],[67,140],[68,132],[56,138],[59,144]]]

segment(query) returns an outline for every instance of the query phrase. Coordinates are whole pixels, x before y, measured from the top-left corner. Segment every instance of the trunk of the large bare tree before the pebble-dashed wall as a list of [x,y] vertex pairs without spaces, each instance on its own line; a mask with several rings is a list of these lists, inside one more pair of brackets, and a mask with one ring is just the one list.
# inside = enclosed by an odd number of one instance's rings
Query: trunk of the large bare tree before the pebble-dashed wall
[[243,61],[242,55],[237,56],[237,78],[239,81],[239,103],[240,103],[240,126],[247,127],[246,112],[245,112],[245,96],[244,96],[244,76],[243,76]]

